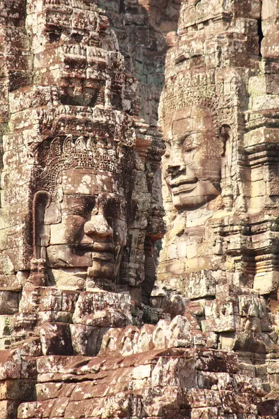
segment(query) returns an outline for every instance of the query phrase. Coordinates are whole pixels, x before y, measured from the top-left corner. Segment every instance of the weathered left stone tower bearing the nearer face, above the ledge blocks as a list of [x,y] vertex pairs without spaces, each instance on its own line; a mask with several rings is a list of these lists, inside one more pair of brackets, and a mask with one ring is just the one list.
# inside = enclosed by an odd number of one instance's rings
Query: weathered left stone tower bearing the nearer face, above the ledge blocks
[[22,45],[5,46],[23,68],[3,77],[3,286],[39,269],[38,285],[126,286],[140,301],[144,243],[163,230],[146,233],[160,140],[137,117],[137,82],[94,2],[8,3]]

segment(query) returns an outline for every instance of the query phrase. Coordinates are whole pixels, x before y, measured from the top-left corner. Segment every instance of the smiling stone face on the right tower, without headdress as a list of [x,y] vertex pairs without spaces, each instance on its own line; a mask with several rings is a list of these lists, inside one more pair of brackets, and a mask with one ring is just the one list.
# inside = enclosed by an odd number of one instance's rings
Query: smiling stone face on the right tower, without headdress
[[166,124],[163,176],[176,210],[198,208],[220,194],[223,141],[216,138],[210,110],[176,110]]

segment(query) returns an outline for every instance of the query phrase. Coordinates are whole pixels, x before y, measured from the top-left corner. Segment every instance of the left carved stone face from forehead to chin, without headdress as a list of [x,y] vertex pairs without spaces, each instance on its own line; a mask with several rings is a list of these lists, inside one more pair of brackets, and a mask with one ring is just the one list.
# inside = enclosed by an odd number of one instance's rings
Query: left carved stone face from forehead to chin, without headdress
[[[62,173],[61,195],[45,212],[47,267],[59,286],[83,287],[86,277],[112,283],[126,244],[123,199],[111,173]],[[54,214],[56,214],[56,219]]]

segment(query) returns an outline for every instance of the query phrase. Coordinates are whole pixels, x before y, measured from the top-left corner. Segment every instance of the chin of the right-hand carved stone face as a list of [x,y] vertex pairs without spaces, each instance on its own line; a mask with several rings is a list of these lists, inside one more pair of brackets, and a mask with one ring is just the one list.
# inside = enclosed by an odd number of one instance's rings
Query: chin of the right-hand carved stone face
[[220,195],[220,191],[210,182],[210,180],[198,181],[196,186],[193,185],[190,189],[190,185],[186,184],[179,188],[172,189],[172,202],[176,210],[194,210],[211,200],[217,198]]

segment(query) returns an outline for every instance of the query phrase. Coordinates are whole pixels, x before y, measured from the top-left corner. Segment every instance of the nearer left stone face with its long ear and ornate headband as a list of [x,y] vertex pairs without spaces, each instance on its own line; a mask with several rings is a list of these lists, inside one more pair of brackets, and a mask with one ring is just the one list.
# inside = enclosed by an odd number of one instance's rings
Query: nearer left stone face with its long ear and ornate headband
[[[78,152],[77,141],[75,145],[70,142],[69,148],[65,140],[62,154],[59,144],[56,150],[51,147],[54,155],[59,155],[54,161],[59,159],[67,166],[70,159],[72,166],[54,176],[56,193],[52,193],[45,208],[37,205],[39,256],[46,259],[49,277],[57,286],[83,288],[86,279],[87,286],[89,282],[91,286],[110,286],[116,280],[127,235],[120,161],[114,159],[117,145],[103,149],[105,154],[99,153],[103,160],[97,166],[105,165],[107,169],[96,170],[90,167],[89,152],[85,148],[83,154]],[[85,142],[82,146],[86,147]],[[72,156],[66,154],[67,147],[73,150]],[[96,162],[98,155],[94,155]],[[49,182],[50,168],[47,168]]]

